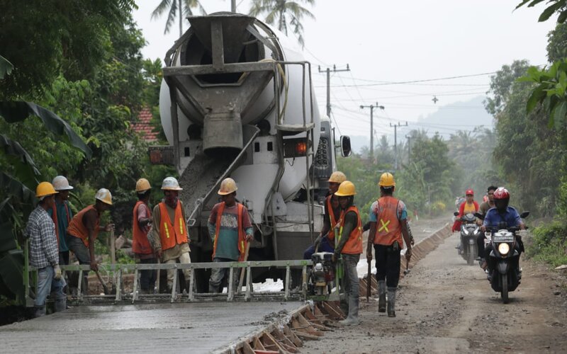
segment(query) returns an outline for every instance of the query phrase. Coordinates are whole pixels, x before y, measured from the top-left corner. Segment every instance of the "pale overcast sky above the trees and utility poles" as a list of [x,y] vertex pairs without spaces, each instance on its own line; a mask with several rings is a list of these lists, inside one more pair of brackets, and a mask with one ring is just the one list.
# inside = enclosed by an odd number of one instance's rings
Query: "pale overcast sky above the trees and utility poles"
[[[350,72],[331,77],[331,104],[342,134],[369,135],[370,112],[360,105],[378,103],[375,134],[391,134],[390,122],[419,120],[450,103],[464,102],[488,90],[490,75],[514,59],[546,63],[547,33],[554,19],[538,23],[544,6],[520,8],[520,0],[317,0],[303,20],[305,59],[318,65],[337,65]],[[134,19],[148,42],[145,57],[163,59],[179,37],[179,23],[164,35],[166,16],[150,20],[159,0],[137,1]],[[208,13],[230,11],[230,0],[201,0]],[[237,0],[237,11],[247,13],[249,0]],[[513,12],[512,12],[513,11]],[[263,20],[261,17],[260,19]],[[189,23],[184,21],[184,30]],[[290,33],[291,36],[293,36]],[[313,74],[318,105],[325,112],[325,74]],[[408,84],[388,82],[442,79]],[[437,104],[432,102],[436,96]],[[478,110],[465,105],[459,109]],[[376,117],[376,114],[378,117]],[[471,129],[474,122],[455,124]],[[444,135],[451,129],[446,128]]]

